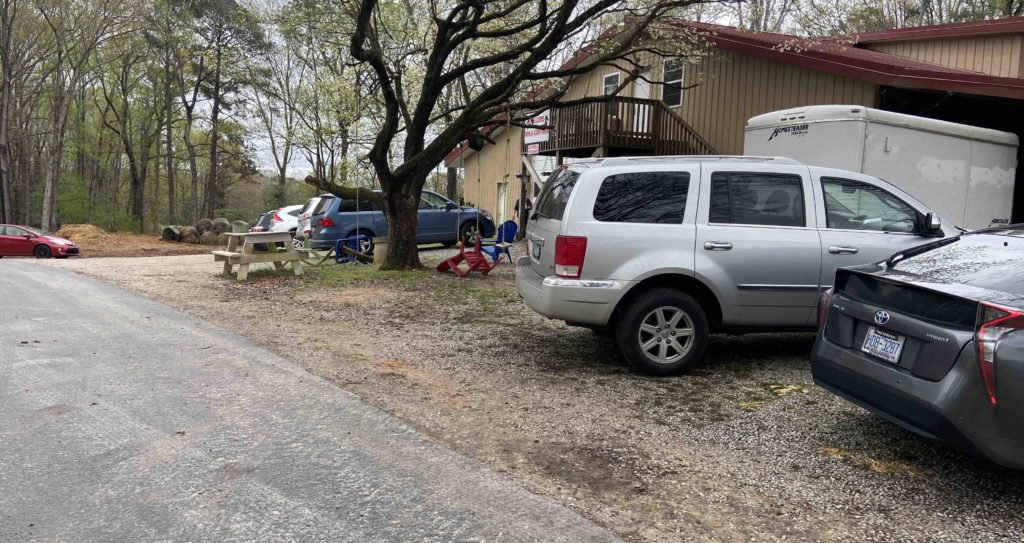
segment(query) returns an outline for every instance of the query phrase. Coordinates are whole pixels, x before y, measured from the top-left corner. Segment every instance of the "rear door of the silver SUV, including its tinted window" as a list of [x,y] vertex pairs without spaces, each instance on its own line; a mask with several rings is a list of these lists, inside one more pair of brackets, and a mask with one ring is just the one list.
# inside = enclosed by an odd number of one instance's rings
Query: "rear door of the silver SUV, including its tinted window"
[[705,165],[694,270],[717,291],[725,326],[805,326],[821,245],[802,166]]

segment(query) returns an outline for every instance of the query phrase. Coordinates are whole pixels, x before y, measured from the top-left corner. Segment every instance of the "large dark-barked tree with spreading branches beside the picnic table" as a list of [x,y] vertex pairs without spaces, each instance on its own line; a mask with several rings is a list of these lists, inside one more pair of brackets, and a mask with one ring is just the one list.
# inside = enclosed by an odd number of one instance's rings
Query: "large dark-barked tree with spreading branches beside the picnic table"
[[[647,32],[652,24],[698,2],[455,0],[431,2],[427,13],[412,11],[412,4],[354,4],[349,51],[369,67],[383,109],[368,154],[388,219],[383,267],[419,267],[420,193],[451,150],[467,139],[479,149],[486,140],[481,129],[509,122],[496,121],[499,116],[519,122],[522,114],[557,101],[567,78],[598,66],[621,64],[635,78],[641,67],[631,58],[658,49],[656,33]],[[679,39],[673,36],[669,42]],[[588,61],[552,64],[580,45],[591,53]],[[474,86],[466,99],[442,111],[439,101],[446,89],[467,81]],[[603,97],[582,100],[599,99]],[[451,122],[439,128],[438,120],[445,117]]]

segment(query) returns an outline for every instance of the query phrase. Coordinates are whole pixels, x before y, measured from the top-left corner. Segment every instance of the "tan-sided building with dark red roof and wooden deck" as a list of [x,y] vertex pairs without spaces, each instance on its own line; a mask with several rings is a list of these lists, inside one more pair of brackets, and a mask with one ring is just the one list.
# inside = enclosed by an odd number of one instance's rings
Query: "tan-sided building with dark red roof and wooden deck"
[[[643,77],[607,102],[551,108],[543,141],[500,126],[490,134],[495,144],[456,149],[445,164],[464,169],[466,200],[496,218],[517,218],[515,202],[536,196],[543,182],[538,157],[551,157],[551,166],[580,157],[738,155],[748,119],[801,106],[865,106],[1015,132],[1024,140],[1024,17],[849,39],[670,24],[688,35],[706,33],[708,52],[692,62],[639,58]],[[563,99],[610,94],[627,77],[598,67],[574,78]],[[1015,221],[1024,221],[1022,178],[1018,168]]]

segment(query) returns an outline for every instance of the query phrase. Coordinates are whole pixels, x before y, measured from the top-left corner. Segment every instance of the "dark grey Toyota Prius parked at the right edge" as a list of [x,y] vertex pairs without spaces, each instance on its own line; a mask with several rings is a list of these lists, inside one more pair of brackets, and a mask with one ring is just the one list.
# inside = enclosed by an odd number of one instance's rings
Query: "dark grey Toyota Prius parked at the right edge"
[[1024,469],[1024,224],[839,269],[819,316],[818,385]]

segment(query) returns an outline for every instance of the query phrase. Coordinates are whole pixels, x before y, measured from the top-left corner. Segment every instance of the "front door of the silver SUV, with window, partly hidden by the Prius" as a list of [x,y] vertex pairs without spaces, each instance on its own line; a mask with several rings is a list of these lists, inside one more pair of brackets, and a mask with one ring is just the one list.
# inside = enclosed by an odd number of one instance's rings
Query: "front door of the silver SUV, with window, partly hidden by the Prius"
[[831,287],[837,267],[877,262],[933,240],[921,234],[928,210],[897,196],[895,187],[852,172],[814,172],[813,177],[822,289]]

